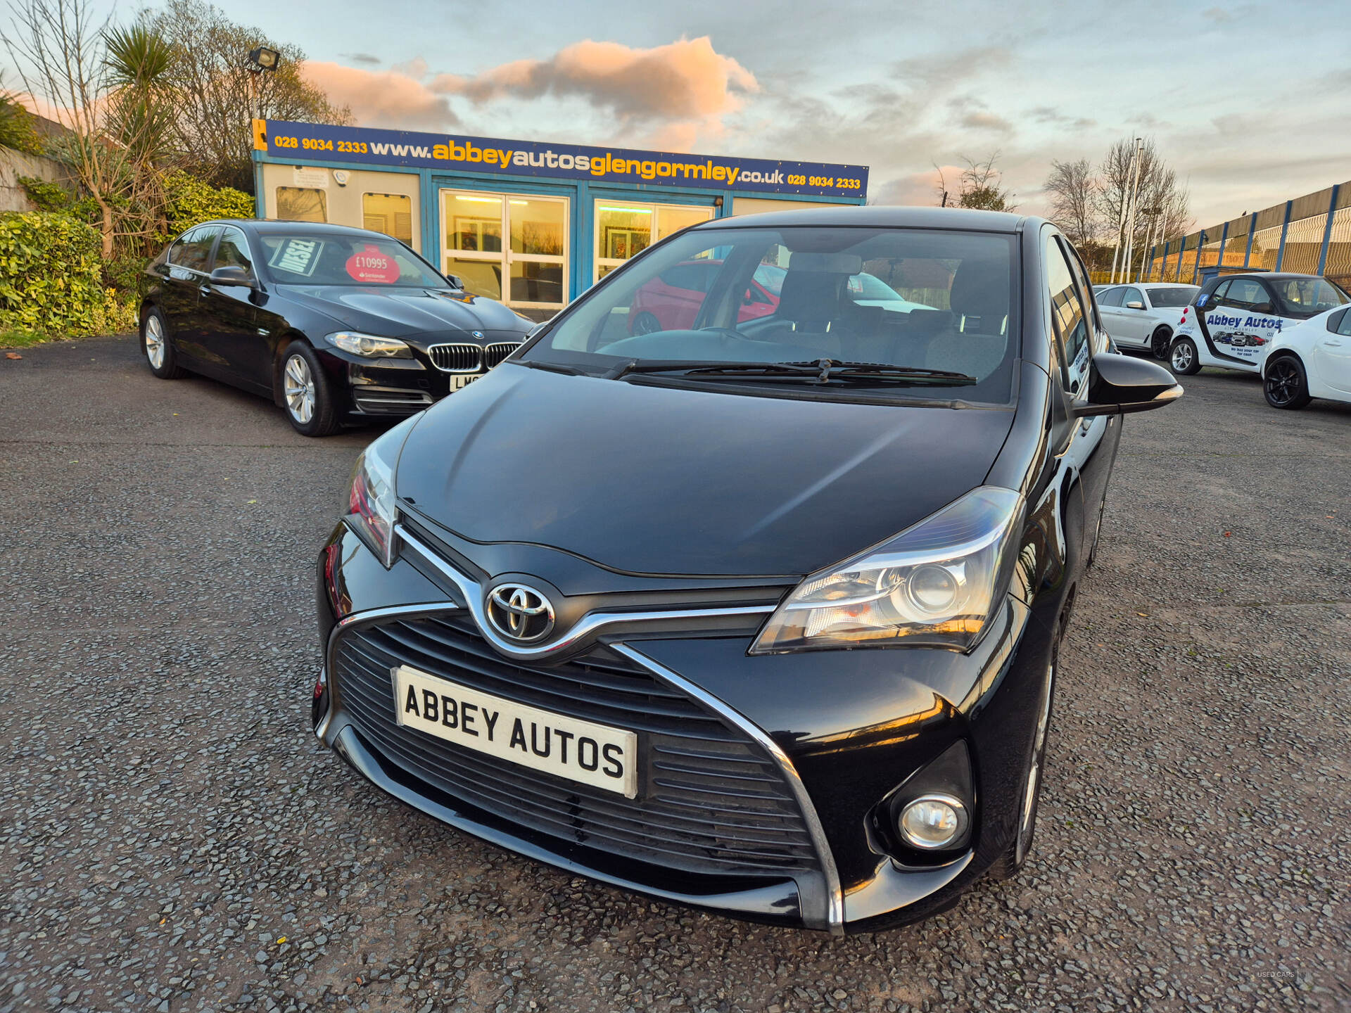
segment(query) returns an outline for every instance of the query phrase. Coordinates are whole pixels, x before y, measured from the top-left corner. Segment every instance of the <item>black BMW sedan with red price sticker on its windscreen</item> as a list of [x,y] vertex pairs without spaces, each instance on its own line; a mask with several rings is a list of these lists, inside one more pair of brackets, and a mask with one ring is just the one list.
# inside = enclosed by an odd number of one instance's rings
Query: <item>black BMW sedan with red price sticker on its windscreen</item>
[[534,327],[397,239],[345,226],[207,222],[146,273],[150,370],[270,397],[307,436],[420,412],[482,377]]

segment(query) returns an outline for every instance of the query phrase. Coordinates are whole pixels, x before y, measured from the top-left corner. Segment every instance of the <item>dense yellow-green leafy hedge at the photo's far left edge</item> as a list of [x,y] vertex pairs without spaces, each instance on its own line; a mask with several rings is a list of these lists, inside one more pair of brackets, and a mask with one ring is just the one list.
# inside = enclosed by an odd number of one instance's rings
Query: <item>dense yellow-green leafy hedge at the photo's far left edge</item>
[[134,309],[103,284],[97,230],[70,215],[0,215],[0,328],[74,338],[126,330]]

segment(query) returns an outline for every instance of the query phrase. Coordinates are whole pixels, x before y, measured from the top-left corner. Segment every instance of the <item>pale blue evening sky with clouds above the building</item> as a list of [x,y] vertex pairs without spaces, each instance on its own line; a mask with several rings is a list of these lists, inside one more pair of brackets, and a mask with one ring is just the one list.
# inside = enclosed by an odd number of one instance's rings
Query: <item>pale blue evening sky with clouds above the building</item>
[[1043,213],[1051,159],[1131,136],[1177,169],[1196,227],[1351,178],[1351,19],[1321,0],[226,9],[300,46],[361,126],[862,163],[881,204],[936,203],[935,166],[997,151]]

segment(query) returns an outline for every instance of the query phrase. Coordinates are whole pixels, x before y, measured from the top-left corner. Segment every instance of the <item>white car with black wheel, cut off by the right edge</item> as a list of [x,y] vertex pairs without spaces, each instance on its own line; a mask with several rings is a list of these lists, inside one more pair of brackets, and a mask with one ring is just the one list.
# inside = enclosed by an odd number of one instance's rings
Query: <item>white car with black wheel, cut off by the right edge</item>
[[1351,402],[1351,307],[1281,331],[1262,362],[1273,408],[1304,408],[1315,397]]

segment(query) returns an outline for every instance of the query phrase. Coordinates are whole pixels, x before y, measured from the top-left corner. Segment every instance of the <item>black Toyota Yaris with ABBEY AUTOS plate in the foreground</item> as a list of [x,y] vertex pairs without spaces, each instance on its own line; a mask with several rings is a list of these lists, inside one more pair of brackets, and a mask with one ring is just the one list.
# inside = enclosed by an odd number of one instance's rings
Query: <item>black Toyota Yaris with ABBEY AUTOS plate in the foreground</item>
[[[643,286],[701,259],[693,323],[634,334]],[[1039,219],[686,230],[362,454],[319,559],[316,732],[644,894],[932,914],[1027,859],[1120,416],[1181,393],[1111,351]]]

